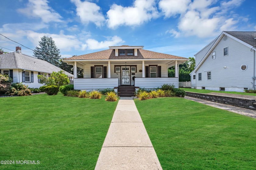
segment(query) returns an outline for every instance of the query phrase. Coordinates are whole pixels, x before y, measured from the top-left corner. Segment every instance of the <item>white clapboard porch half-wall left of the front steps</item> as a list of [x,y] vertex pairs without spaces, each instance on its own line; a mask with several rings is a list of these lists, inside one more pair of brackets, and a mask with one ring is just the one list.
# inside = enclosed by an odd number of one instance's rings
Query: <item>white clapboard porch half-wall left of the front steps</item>
[[75,78],[74,89],[105,89],[118,87],[118,78]]

